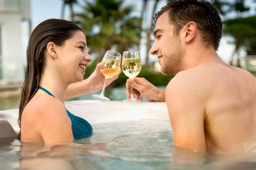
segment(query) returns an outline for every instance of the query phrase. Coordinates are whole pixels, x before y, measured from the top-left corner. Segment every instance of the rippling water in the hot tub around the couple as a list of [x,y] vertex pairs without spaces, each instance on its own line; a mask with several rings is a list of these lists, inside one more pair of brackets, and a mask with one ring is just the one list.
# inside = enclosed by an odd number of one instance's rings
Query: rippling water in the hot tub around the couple
[[[208,155],[174,148],[168,120],[93,124],[94,135],[68,145],[0,141],[0,170],[255,170],[256,154]],[[238,168],[238,169],[237,169]]]

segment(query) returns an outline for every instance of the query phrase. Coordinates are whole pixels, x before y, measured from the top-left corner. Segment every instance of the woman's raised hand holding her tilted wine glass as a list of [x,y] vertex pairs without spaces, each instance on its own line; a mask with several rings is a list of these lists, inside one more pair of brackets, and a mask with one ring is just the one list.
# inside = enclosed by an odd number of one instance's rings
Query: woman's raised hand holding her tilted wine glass
[[[89,91],[88,91],[89,93],[96,92],[102,89],[105,81],[105,76],[100,72],[100,69],[103,67],[103,65],[104,65],[104,61],[98,63],[94,72],[90,75],[90,77],[86,79],[89,85]],[[119,69],[118,74],[116,74],[115,76],[107,80],[106,86],[110,85],[114,80],[116,80],[120,73],[121,73],[121,69]]]

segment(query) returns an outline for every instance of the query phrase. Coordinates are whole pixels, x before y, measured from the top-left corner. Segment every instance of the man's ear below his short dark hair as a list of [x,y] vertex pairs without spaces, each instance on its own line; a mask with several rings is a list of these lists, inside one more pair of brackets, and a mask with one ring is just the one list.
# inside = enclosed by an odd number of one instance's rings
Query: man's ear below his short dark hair
[[192,41],[197,34],[196,22],[190,21],[183,27],[183,39],[186,43]]

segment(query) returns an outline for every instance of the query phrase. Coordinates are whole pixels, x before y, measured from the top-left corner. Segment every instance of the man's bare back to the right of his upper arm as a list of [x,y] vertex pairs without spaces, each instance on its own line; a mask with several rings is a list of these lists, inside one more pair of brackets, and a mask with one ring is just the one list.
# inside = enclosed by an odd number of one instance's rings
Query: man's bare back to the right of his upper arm
[[204,123],[207,149],[237,152],[246,141],[256,138],[256,79],[232,66],[208,69],[212,69],[212,92]]

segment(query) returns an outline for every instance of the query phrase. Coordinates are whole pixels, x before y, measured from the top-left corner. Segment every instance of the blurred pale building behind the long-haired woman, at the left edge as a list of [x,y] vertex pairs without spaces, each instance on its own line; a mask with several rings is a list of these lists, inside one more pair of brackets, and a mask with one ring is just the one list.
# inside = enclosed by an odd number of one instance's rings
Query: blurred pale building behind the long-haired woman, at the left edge
[[0,84],[18,83],[24,78],[23,21],[31,31],[30,0],[0,0]]

